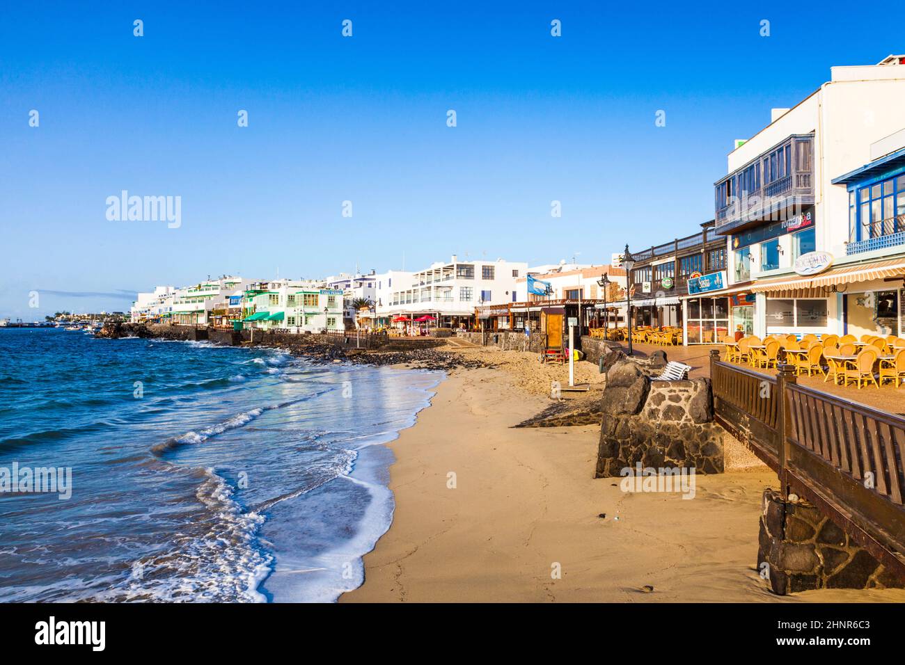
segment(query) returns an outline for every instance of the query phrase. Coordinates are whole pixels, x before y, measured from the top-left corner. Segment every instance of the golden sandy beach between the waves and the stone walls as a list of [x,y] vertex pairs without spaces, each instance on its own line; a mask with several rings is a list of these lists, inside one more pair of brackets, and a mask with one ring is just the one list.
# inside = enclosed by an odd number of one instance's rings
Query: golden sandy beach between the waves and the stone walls
[[905,601],[771,594],[755,569],[767,467],[699,475],[691,500],[624,493],[593,478],[599,426],[512,429],[550,403],[519,375],[457,370],[391,445],[393,524],[340,602]]

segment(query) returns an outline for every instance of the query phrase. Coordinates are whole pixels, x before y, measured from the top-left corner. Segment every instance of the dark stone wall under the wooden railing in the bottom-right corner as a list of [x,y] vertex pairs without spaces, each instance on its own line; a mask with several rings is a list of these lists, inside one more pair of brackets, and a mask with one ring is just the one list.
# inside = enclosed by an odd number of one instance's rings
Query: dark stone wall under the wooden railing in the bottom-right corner
[[766,571],[776,594],[905,587],[813,505],[783,500],[774,489],[764,490],[757,569]]

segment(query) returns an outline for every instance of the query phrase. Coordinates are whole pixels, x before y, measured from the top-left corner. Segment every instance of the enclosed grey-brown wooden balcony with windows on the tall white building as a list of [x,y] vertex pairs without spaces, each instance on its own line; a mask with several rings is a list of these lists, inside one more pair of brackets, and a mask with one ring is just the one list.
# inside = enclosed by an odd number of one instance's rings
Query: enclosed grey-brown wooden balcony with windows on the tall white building
[[[776,171],[783,175],[771,180],[771,172]],[[752,178],[758,186],[749,190]],[[719,233],[748,222],[800,214],[802,207],[814,203],[814,135],[786,138],[720,179],[715,187],[714,217]]]

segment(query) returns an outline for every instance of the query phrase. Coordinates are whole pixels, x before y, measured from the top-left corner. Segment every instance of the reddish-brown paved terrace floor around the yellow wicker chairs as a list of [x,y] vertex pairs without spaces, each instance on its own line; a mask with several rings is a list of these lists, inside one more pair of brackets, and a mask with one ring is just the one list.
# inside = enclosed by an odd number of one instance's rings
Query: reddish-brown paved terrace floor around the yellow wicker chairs
[[[627,344],[625,342],[620,342],[619,344],[627,353]],[[722,345],[709,344],[689,347],[656,347],[650,344],[633,345],[635,356],[646,357],[650,356],[654,351],[665,351],[667,359],[678,360],[679,362],[685,363],[686,365],[691,365],[691,372],[689,373],[689,376],[691,378],[697,378],[699,376],[710,376],[711,348],[719,350],[720,358],[723,356],[725,347],[723,347]],[[776,370],[773,368],[757,369],[757,367],[750,367],[748,365],[743,366],[748,369],[753,369],[756,372],[760,372],[761,374],[776,375]],[[824,377],[822,375],[800,375],[798,376],[798,383],[801,385],[806,385],[809,388],[813,388],[814,390],[834,394],[837,397],[842,397],[843,399],[850,400],[851,402],[866,404],[867,406],[878,409],[885,413],[896,413],[898,415],[905,416],[905,385],[900,385],[898,388],[893,388],[891,384],[885,384],[882,385],[879,390],[876,387],[870,385],[859,390],[854,385],[833,385],[832,381],[827,381],[824,383]]]

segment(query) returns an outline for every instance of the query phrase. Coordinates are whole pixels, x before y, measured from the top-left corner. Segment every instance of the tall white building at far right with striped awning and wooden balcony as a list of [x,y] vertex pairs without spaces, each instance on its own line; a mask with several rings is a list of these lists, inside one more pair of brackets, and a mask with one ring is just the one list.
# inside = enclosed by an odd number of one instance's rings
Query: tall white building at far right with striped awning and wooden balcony
[[895,300],[900,334],[901,292],[885,280],[905,271],[881,260],[905,242],[896,236],[905,179],[896,159],[870,164],[905,145],[903,63],[833,67],[830,81],[736,142],[715,184],[729,264],[698,294],[725,312],[716,331],[842,335],[846,310],[882,289]]

